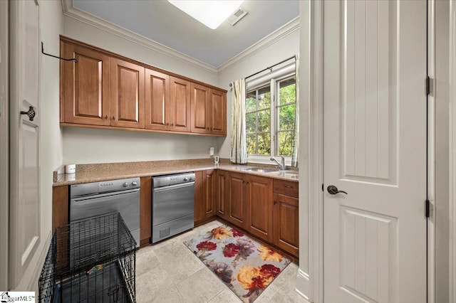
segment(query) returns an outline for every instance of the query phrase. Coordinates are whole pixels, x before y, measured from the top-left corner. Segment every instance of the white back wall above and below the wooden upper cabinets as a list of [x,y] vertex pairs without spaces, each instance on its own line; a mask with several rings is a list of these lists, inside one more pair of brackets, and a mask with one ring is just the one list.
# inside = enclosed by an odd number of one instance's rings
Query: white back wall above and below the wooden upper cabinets
[[[217,85],[215,73],[158,53],[75,18],[64,16],[63,36],[203,83]],[[206,158],[209,157],[209,147],[214,147],[217,154],[223,140],[224,137],[64,127],[63,163]]]

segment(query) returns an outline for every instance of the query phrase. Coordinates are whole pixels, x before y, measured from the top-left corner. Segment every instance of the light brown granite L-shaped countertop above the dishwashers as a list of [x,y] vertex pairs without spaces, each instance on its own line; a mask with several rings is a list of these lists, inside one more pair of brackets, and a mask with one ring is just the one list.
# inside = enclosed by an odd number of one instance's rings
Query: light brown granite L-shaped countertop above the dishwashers
[[[269,171],[247,171],[251,168],[263,168]],[[53,186],[68,186],[71,184],[83,184],[90,182],[108,181],[116,179],[128,179],[144,176],[161,176],[167,174],[179,174],[188,171],[203,171],[206,169],[222,169],[236,171],[244,174],[265,176],[273,179],[287,181],[299,181],[296,170],[279,171],[271,165],[239,165],[232,164],[229,159],[220,159],[219,164],[214,164],[213,159],[190,159],[170,161],[141,161],[103,164],[76,164],[76,174],[58,174],[65,171],[61,166],[53,174]]]

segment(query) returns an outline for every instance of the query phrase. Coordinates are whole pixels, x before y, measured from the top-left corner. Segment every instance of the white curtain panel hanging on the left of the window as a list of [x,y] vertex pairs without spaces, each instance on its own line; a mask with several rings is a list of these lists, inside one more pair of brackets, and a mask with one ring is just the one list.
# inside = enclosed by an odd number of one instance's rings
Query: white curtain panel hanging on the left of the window
[[247,163],[245,80],[234,81],[232,87],[231,161],[237,164],[244,164]]

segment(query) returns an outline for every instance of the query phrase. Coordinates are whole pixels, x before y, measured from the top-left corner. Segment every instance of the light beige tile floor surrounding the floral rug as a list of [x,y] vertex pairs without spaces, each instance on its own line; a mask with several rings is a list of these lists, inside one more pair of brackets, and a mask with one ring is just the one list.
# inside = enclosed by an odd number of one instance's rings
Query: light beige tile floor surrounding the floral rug
[[[136,254],[136,301],[142,302],[241,302],[183,244],[222,225],[212,221]],[[303,302],[295,292],[298,265],[291,263],[255,302]]]

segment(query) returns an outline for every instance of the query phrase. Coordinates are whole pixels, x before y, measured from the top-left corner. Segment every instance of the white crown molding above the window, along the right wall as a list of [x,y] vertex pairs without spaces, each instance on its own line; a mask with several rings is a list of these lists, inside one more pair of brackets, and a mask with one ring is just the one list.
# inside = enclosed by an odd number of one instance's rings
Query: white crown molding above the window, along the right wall
[[225,69],[235,65],[237,63],[246,60],[247,58],[251,57],[252,55],[258,53],[259,51],[263,50],[264,48],[270,46],[271,44],[279,41],[281,38],[288,36],[290,33],[299,30],[299,16],[294,18],[293,20],[286,23],[281,28],[278,28],[276,31],[273,31],[268,36],[262,38],[254,45],[249,46],[245,50],[242,50],[241,53],[235,55],[233,58],[229,59],[227,62],[223,63],[217,68],[217,73],[222,73]]

